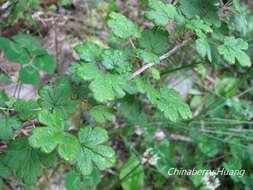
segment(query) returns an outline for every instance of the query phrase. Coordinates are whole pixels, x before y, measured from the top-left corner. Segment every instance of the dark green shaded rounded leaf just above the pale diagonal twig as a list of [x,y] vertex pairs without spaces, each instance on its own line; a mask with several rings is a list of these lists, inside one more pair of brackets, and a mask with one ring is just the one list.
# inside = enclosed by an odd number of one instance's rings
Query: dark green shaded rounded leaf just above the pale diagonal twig
[[140,46],[158,55],[165,53],[169,47],[169,34],[162,30],[144,30],[139,39]]

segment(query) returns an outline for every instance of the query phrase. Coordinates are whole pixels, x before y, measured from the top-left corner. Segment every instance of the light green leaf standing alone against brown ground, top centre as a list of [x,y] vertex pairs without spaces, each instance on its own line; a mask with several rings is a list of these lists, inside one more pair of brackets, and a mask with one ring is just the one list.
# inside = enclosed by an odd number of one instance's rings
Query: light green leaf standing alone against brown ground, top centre
[[107,24],[112,32],[120,38],[139,38],[141,36],[138,26],[120,13],[110,13]]

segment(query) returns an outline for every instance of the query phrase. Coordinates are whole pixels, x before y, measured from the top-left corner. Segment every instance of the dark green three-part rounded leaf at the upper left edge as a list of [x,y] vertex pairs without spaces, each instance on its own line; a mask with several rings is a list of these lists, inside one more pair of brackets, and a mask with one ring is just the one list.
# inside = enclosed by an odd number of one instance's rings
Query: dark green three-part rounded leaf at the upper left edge
[[21,64],[19,80],[25,84],[39,85],[39,71],[53,74],[56,68],[54,58],[43,49],[36,38],[19,34],[11,40],[0,37],[0,50],[5,58],[13,63]]

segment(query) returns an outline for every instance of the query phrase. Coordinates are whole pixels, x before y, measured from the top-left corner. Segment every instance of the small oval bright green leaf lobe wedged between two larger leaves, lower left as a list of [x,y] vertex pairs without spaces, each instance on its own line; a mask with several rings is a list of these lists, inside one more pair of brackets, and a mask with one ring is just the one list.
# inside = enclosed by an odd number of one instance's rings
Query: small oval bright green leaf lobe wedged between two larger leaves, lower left
[[66,161],[73,163],[80,151],[80,144],[77,138],[69,133],[64,134],[63,141],[60,143],[58,152]]

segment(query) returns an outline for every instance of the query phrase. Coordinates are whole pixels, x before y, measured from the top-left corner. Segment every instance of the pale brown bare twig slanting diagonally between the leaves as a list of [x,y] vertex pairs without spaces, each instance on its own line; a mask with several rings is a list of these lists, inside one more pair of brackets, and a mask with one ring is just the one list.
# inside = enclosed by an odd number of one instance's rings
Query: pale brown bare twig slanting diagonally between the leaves
[[[163,54],[162,56],[159,57],[160,61],[163,61],[167,58],[169,58],[170,56],[174,55],[179,49],[181,49],[182,47],[186,46],[188,44],[188,42],[191,40],[192,38],[188,38],[184,41],[182,41],[182,43],[177,44],[174,48],[172,48],[170,51],[168,51],[167,53]],[[129,78],[129,80],[134,79],[135,77],[137,77],[138,75],[140,75],[141,73],[143,73],[145,70],[149,69],[150,67],[152,67],[153,65],[155,65],[155,63],[148,63],[146,65],[143,65],[141,68],[139,68],[137,71],[135,71],[131,77]]]

